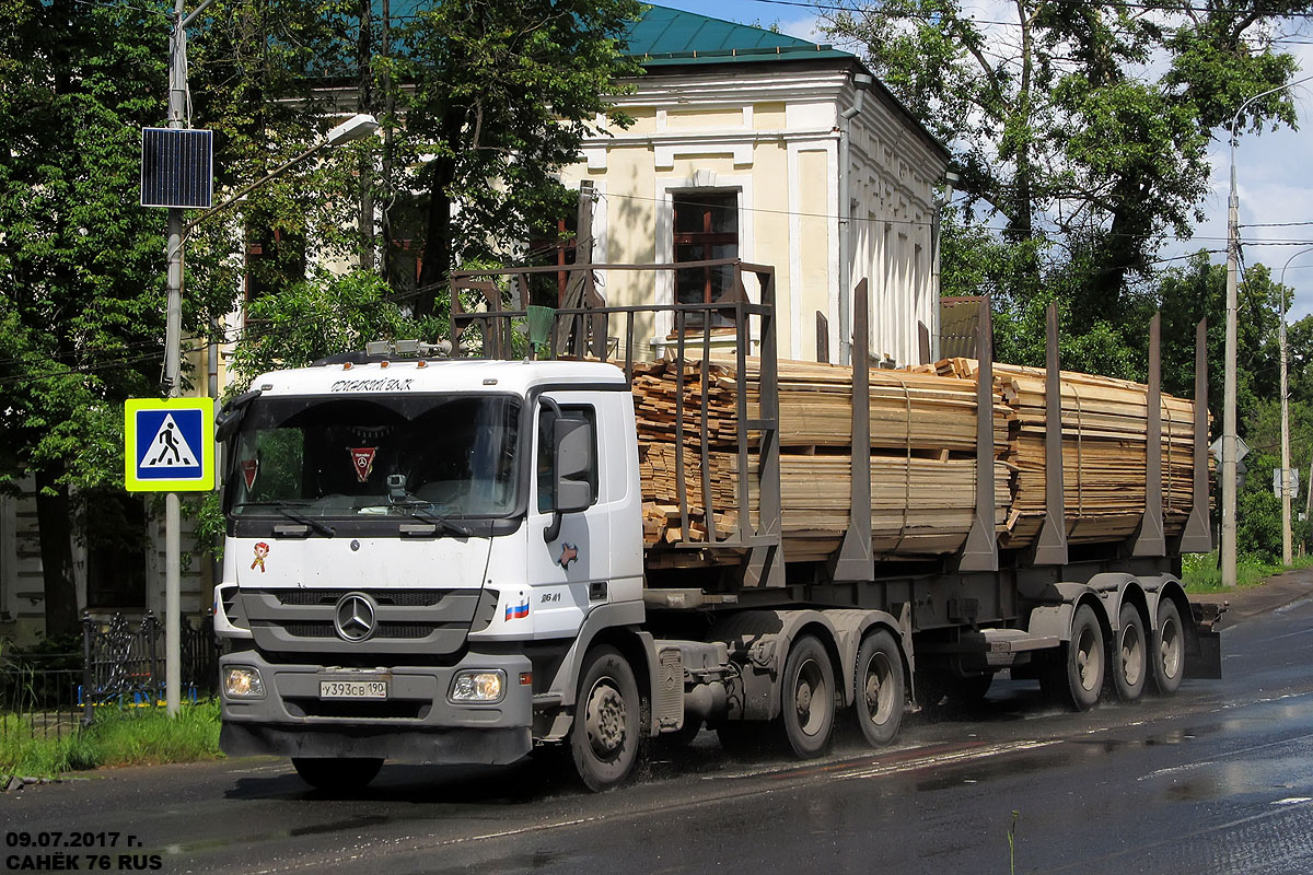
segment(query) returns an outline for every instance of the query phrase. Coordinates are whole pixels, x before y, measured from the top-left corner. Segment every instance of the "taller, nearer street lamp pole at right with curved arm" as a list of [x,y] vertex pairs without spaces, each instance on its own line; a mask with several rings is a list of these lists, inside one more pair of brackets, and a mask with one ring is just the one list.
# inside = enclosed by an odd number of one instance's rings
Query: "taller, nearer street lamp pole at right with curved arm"
[[[1254,101],[1306,83],[1292,83],[1254,94],[1236,110],[1230,123],[1230,197],[1226,199],[1226,361],[1222,387],[1222,586],[1236,585],[1236,311],[1239,273],[1239,194],[1236,188],[1236,126]],[[1283,320],[1284,321],[1284,320]],[[1283,487],[1284,489],[1284,487]]]

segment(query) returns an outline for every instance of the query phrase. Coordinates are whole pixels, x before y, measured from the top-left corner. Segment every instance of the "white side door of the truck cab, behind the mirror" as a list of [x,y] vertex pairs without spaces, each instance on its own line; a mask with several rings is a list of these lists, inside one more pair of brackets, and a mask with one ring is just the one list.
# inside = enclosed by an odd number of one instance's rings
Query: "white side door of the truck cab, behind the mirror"
[[[561,415],[580,418],[588,424],[592,439],[592,470],[588,480],[596,496],[592,506],[582,513],[567,513],[561,519],[561,530],[551,540],[545,533],[551,526],[551,462],[553,425],[555,411],[544,403],[536,412],[534,475],[529,495],[529,614],[534,638],[559,638],[579,631],[588,613],[590,588],[596,596],[604,592],[611,579],[611,508],[612,489],[600,476],[605,470],[600,453],[601,439],[596,395],[588,392],[550,392],[548,396],[561,408]],[[604,601],[604,598],[603,598]]]

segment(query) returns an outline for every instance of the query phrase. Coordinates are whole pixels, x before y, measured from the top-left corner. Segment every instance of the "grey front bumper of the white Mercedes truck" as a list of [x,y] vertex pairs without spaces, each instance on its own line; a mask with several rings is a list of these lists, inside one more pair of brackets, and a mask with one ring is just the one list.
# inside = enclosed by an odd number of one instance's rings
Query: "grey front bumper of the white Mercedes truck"
[[[470,652],[449,666],[361,670],[274,664],[256,651],[242,651],[219,660],[221,678],[230,666],[256,669],[264,687],[260,697],[230,697],[221,690],[219,748],[230,756],[504,765],[527,756],[533,745],[533,690],[521,682],[532,666],[521,655]],[[453,702],[453,681],[470,670],[500,670],[500,701]],[[377,678],[387,682],[386,699],[320,698],[322,681]]]

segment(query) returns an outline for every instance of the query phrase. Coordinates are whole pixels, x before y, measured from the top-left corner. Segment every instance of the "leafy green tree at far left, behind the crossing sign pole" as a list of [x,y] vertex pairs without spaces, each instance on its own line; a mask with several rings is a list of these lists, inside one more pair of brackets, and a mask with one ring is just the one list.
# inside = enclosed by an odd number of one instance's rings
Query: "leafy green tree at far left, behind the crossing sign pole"
[[164,215],[138,206],[167,18],[0,3],[0,480],[35,475],[47,635],[76,628],[71,489],[122,480],[122,399],[163,358]]

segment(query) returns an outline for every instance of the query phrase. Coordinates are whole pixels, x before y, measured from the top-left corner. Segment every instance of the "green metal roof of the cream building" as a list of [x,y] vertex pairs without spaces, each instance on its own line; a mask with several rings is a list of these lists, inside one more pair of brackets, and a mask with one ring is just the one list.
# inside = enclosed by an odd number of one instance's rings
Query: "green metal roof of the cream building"
[[827,45],[667,7],[651,7],[630,25],[626,38],[628,54],[647,67],[853,59],[851,54]]

